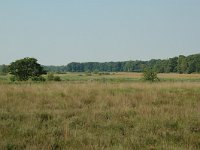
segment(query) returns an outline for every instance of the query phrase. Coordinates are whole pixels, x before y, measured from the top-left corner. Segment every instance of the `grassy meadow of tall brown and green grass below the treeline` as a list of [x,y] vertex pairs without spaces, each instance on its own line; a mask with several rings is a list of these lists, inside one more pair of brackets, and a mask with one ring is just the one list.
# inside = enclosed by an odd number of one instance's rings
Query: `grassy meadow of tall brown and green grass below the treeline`
[[0,82],[0,149],[200,149],[200,75]]

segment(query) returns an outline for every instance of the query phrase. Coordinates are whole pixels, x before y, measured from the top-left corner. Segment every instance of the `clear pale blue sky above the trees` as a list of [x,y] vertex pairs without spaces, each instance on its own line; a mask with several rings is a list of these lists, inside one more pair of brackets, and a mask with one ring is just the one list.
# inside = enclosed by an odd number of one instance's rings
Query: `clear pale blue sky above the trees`
[[167,59],[200,52],[200,0],[0,0],[0,64]]

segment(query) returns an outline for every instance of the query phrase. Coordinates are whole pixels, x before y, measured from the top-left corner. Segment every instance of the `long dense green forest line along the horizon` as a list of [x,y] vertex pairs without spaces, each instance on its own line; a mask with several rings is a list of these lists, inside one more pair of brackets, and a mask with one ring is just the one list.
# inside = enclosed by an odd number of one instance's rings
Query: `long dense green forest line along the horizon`
[[[44,66],[48,72],[142,72],[152,68],[158,73],[200,73],[200,54],[180,55],[169,59],[151,59],[149,61],[122,62],[72,62],[64,66]],[[7,72],[6,65],[0,65],[0,72]]]

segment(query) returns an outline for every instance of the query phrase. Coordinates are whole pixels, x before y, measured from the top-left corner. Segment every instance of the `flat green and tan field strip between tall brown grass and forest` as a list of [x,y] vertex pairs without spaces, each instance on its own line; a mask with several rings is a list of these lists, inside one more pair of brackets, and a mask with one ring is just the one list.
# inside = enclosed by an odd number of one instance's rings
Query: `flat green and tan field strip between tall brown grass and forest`
[[[108,81],[108,82],[141,82],[143,81],[142,73],[110,73],[104,74],[87,74],[87,73],[67,73],[60,75],[63,80],[67,81]],[[160,73],[158,77],[161,81],[170,82],[200,82],[200,74],[177,74],[177,73]]]

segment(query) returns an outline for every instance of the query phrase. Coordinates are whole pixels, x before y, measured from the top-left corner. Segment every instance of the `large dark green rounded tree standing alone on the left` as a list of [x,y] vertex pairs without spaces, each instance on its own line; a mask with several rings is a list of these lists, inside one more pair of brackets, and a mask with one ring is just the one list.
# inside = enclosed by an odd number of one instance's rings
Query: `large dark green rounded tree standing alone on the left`
[[26,81],[29,78],[46,74],[43,67],[37,63],[37,59],[28,57],[12,62],[9,65],[9,70],[10,74],[14,75],[20,81]]

